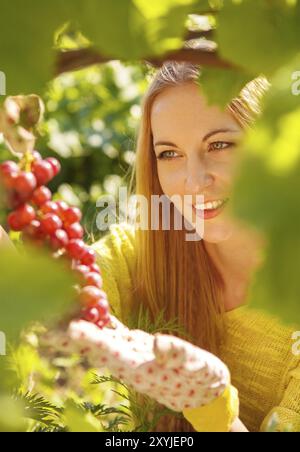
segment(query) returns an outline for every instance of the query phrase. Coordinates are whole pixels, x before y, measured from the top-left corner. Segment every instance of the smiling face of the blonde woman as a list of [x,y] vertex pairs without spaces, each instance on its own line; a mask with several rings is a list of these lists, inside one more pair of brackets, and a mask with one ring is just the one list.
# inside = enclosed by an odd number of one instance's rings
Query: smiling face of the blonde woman
[[205,241],[227,240],[233,231],[227,206],[241,126],[228,111],[208,106],[199,86],[189,82],[156,97],[151,128],[164,194],[179,195],[175,206]]

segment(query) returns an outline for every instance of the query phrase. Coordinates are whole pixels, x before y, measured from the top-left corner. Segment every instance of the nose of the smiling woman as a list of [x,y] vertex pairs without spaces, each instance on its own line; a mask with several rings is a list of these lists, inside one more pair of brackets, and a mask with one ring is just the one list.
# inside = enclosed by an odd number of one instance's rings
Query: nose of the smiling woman
[[200,162],[192,163],[187,168],[185,178],[185,190],[190,194],[200,194],[213,182],[213,176],[207,171],[205,165]]

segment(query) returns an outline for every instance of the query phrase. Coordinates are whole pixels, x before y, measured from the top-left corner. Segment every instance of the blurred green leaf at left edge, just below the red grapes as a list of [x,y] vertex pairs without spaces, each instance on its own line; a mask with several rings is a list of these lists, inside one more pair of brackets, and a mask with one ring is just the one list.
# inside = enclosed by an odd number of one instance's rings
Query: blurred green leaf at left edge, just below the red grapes
[[75,280],[66,266],[31,250],[1,250],[0,331],[16,337],[28,322],[49,320],[71,306]]

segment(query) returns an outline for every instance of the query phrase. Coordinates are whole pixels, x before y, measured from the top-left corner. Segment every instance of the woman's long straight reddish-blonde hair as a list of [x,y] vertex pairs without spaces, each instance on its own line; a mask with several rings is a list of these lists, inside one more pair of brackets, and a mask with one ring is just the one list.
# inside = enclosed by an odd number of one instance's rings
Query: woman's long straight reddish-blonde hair
[[[131,180],[135,194],[143,195],[151,209],[151,195],[163,195],[156,167],[150,124],[155,98],[164,89],[187,82],[197,83],[201,69],[191,63],[166,62],[155,74],[142,102],[137,134],[136,162]],[[259,113],[259,100],[268,86],[264,78],[251,81],[229,105],[243,128]],[[171,205],[171,218],[174,218]],[[151,218],[149,210],[148,218]],[[177,318],[189,340],[213,353],[223,335],[222,293],[224,282],[205,250],[203,240],[186,241],[186,231],[136,230],[135,300],[155,318],[165,310],[165,320]],[[184,419],[165,418],[158,431],[193,431]]]

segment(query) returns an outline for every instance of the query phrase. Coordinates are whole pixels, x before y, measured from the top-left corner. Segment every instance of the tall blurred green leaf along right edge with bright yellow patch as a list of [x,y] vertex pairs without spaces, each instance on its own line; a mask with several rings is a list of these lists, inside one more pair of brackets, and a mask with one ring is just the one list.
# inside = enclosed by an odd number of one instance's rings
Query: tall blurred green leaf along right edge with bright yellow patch
[[267,239],[265,263],[250,303],[300,322],[300,98],[293,95],[293,65],[271,80],[264,113],[248,134],[232,197],[233,213]]

